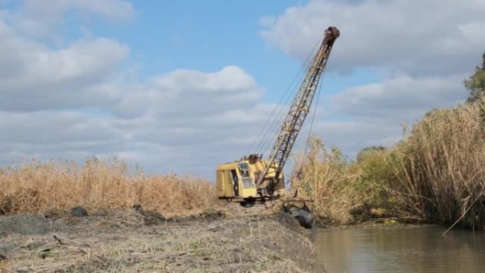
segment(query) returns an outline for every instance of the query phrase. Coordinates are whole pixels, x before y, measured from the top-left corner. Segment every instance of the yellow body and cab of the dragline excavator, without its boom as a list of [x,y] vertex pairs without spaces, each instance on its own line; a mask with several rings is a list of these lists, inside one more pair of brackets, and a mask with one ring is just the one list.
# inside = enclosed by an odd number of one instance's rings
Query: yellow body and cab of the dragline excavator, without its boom
[[267,164],[266,160],[240,160],[219,165],[216,169],[219,199],[256,200],[269,198],[275,191],[284,189],[283,174],[274,179],[274,168],[269,169],[260,186],[255,184]]

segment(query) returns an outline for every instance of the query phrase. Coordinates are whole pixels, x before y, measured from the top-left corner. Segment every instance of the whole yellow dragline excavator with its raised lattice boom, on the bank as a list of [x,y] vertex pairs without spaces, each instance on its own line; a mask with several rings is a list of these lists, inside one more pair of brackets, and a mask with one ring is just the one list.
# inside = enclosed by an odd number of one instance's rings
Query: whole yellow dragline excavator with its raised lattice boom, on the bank
[[310,111],[333,43],[339,35],[340,31],[335,27],[325,30],[320,47],[313,58],[308,59],[311,62],[308,62],[306,74],[289,105],[289,111],[282,120],[281,129],[269,157],[262,159],[261,154],[252,154],[217,167],[216,184],[219,199],[250,206],[255,204],[255,201],[264,203],[284,195],[283,167]]

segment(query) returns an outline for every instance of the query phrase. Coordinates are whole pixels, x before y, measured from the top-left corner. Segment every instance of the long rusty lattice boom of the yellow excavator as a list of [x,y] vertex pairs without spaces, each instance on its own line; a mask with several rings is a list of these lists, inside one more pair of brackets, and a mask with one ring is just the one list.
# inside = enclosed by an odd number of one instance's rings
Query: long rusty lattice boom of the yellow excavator
[[269,155],[269,164],[264,168],[263,175],[260,175],[257,179],[257,187],[261,185],[264,179],[267,179],[269,169],[276,171],[273,177],[279,177],[279,174],[281,174],[291,152],[291,148],[296,141],[296,137],[300,133],[303,122],[310,111],[318,83],[320,82],[325,65],[327,65],[328,56],[332,50],[333,43],[339,35],[340,31],[335,27],[330,27],[325,30],[325,38],[316,55],[313,57],[308,67],[308,72],[306,72],[306,76],[303,78],[301,87],[291,102],[289,112],[286,114],[286,118],[281,125],[276,143],[274,143],[272,152]]

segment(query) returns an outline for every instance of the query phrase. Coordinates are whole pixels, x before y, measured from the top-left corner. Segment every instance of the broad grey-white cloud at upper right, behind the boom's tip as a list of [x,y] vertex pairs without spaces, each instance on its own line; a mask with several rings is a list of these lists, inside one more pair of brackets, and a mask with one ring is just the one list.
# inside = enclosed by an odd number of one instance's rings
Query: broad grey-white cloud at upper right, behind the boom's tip
[[264,20],[262,37],[306,57],[328,26],[340,28],[330,70],[386,67],[406,74],[468,71],[485,44],[485,2],[311,0]]

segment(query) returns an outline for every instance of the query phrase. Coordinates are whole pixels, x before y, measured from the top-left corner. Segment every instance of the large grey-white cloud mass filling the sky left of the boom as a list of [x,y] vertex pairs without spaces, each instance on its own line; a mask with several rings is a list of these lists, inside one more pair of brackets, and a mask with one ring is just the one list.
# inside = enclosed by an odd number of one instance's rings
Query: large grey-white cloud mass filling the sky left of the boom
[[[69,2],[70,3],[70,2]],[[27,8],[25,8],[27,9]],[[118,156],[152,172],[211,177],[252,140],[270,106],[237,66],[128,81],[112,38],[49,46],[0,18],[0,162]]]

